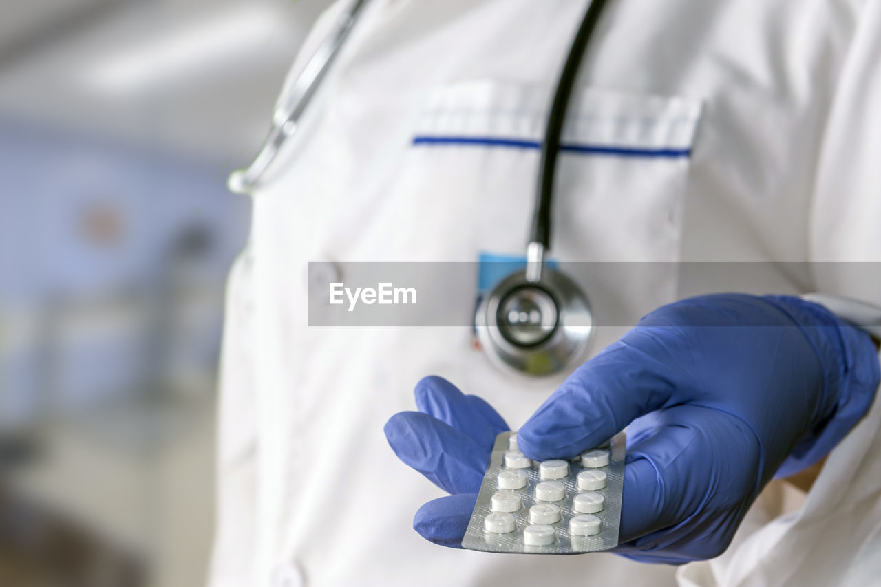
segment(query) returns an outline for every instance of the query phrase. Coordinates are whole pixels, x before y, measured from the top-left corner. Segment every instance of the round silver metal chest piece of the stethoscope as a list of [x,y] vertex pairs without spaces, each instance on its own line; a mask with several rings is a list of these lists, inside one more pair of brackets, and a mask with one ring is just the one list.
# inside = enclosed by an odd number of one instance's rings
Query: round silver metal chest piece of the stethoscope
[[544,267],[503,279],[478,305],[475,327],[490,358],[520,374],[553,375],[587,353],[594,334],[587,296],[565,274]]

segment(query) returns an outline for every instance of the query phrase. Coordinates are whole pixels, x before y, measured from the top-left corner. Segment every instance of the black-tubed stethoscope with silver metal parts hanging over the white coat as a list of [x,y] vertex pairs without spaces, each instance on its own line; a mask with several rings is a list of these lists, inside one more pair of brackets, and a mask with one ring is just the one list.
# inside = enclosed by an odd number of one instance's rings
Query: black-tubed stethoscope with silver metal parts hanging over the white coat
[[[229,189],[248,193],[275,160],[315,95],[367,0],[354,0],[337,27],[308,61],[272,116],[272,128],[251,165],[230,176]],[[526,249],[526,268],[502,279],[478,304],[474,324],[490,359],[502,368],[533,376],[552,375],[587,353],[595,321],[587,296],[562,271],[544,263],[551,248],[551,204],[560,134],[581,59],[606,0],[592,0],[575,33],[560,73],[541,151],[538,190]]]

